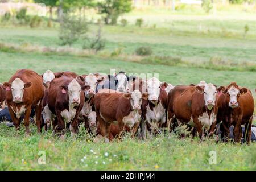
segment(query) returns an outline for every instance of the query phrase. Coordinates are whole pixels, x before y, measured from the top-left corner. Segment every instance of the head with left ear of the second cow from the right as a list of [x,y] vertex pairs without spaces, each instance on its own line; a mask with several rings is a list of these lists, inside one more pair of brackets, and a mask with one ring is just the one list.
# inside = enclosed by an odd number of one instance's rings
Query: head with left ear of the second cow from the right
[[205,106],[207,106],[209,110],[212,110],[216,101],[217,88],[213,84],[205,83],[204,85],[205,86],[197,85],[196,91],[201,94],[204,94]]

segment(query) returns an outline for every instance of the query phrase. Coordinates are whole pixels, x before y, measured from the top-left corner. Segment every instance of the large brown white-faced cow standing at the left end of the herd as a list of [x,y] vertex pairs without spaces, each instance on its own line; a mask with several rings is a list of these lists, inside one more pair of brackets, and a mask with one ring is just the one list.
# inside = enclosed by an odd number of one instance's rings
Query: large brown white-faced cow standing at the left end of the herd
[[21,69],[3,86],[6,89],[6,101],[16,129],[19,129],[20,118],[24,114],[26,134],[30,133],[30,113],[31,109],[35,108],[36,126],[38,127],[38,133],[40,133],[42,99],[44,96],[42,77],[29,69]]

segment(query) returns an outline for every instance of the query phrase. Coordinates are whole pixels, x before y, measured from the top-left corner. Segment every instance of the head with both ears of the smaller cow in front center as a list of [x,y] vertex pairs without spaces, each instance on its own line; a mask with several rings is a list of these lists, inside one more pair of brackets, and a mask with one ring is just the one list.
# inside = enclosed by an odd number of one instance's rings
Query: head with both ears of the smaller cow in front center
[[127,100],[130,100],[131,107],[133,110],[139,110],[141,109],[142,104],[142,98],[144,100],[147,100],[148,94],[147,93],[141,93],[139,90],[134,90],[131,93],[124,93],[123,97]]

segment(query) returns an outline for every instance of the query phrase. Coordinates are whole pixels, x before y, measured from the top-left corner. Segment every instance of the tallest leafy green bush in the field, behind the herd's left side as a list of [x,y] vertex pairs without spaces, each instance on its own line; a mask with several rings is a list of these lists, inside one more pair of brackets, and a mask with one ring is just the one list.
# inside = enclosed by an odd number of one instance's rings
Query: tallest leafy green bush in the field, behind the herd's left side
[[88,23],[81,18],[65,14],[60,23],[59,38],[61,45],[71,46],[88,31]]

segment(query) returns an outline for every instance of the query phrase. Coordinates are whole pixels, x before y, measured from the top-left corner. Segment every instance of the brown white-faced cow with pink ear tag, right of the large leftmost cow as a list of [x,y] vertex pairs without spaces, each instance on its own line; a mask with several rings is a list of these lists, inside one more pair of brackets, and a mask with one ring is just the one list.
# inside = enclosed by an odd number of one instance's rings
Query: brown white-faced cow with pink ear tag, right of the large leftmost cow
[[56,115],[57,132],[63,131],[66,123],[72,135],[77,133],[77,118],[84,105],[82,90],[87,89],[88,85],[72,76],[64,75],[51,81],[47,104],[52,114]]

